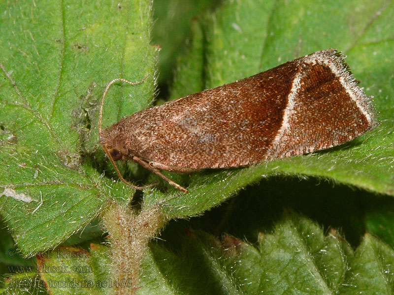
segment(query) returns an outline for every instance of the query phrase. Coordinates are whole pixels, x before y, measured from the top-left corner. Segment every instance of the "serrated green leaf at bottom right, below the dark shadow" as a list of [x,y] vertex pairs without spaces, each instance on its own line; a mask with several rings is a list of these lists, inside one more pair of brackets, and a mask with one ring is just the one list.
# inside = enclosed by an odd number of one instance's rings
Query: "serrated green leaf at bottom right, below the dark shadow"
[[372,236],[354,252],[336,231],[324,236],[315,223],[288,214],[256,246],[194,231],[152,245],[138,294],[391,294],[393,257],[393,248]]

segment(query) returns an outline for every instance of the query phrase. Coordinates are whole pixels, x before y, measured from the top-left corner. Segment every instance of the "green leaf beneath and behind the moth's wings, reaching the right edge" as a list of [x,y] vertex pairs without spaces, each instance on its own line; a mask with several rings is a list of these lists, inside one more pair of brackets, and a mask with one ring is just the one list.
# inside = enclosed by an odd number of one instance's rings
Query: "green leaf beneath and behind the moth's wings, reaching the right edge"
[[[250,168],[194,174],[189,195],[154,191],[145,196],[145,204],[163,204],[170,218],[193,216],[220,204],[248,184],[273,175],[329,178],[393,196],[393,13],[394,6],[383,0],[372,5],[367,0],[225,2],[202,22],[205,58],[196,59],[203,41],[192,42],[189,58],[183,59],[184,65],[176,75],[176,93],[178,89],[182,93],[198,89],[187,75],[193,68],[203,69],[203,88],[211,88],[314,51],[337,48],[348,55],[347,62],[366,94],[374,95],[380,126],[325,151]],[[197,32],[197,40],[199,36]],[[206,60],[206,64],[196,66],[196,60]],[[188,85],[190,89],[185,89]]]

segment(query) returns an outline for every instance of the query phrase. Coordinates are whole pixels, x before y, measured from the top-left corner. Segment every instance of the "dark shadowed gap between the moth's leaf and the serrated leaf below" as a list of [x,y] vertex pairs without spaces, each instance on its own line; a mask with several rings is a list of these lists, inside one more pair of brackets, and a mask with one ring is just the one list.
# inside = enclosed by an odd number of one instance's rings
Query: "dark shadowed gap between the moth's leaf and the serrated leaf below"
[[[217,236],[230,234],[255,243],[259,233],[269,233],[287,210],[316,221],[326,232],[330,228],[336,229],[353,247],[359,245],[368,230],[394,245],[394,237],[388,230],[389,221],[394,221],[392,197],[377,196],[315,177],[263,179],[201,217],[171,221],[162,238],[171,244],[174,236],[192,228]],[[379,219],[386,220],[384,229],[376,229]]]

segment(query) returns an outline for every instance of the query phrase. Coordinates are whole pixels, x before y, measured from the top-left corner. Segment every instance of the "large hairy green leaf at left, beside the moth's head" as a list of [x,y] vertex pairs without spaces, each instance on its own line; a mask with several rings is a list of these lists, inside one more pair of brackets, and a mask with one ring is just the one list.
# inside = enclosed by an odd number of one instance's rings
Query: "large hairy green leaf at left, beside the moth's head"
[[147,76],[110,89],[103,125],[148,106],[157,49],[148,0],[2,1],[0,10],[0,213],[31,255],[90,222],[109,196],[132,196],[101,175],[115,176],[98,145],[99,99],[112,79]]

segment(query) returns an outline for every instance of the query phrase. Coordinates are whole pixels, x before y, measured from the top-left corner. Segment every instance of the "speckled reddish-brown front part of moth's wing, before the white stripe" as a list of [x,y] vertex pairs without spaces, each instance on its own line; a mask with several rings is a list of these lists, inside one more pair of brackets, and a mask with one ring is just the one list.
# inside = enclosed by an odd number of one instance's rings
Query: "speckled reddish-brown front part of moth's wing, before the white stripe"
[[[141,111],[139,157],[182,168],[228,168],[261,162],[282,124],[296,70],[272,69]],[[277,87],[274,81],[281,78]],[[141,124],[142,123],[142,124]]]

